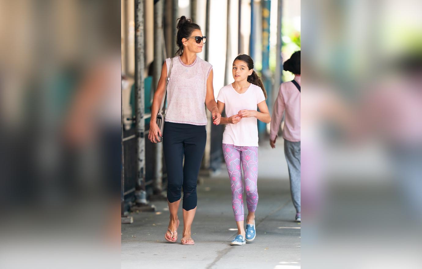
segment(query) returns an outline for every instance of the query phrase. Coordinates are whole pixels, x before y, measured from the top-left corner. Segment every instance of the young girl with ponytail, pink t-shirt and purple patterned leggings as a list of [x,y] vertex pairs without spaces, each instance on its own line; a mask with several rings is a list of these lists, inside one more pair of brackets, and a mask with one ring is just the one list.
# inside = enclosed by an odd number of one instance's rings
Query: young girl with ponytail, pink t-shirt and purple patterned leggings
[[[223,134],[223,154],[232,188],[232,202],[238,235],[230,245],[244,245],[255,239],[255,210],[258,203],[258,128],[257,119],[271,121],[265,99],[267,94],[260,77],[253,70],[254,62],[242,54],[233,62],[234,82],[224,86],[217,97],[219,113],[226,107],[227,118],[214,124],[226,124]],[[261,112],[257,111],[257,107]],[[243,228],[243,179],[246,189],[248,216]]]

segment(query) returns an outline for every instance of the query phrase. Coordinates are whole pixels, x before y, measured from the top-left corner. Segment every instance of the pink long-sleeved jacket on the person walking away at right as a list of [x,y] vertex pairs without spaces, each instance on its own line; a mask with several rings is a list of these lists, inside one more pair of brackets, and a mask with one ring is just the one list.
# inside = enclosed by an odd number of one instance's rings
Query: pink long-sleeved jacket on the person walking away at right
[[[300,84],[300,76],[295,75],[295,81]],[[274,103],[271,117],[270,139],[274,140],[280,129],[281,118],[286,110],[283,138],[291,142],[300,141],[300,91],[290,81],[280,85],[279,94]]]

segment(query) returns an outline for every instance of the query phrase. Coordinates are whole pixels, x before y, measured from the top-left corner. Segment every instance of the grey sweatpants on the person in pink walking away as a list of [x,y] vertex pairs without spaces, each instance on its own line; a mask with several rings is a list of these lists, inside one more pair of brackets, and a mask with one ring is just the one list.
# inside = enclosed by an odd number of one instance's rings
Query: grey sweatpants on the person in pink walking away
[[289,167],[290,192],[296,212],[300,212],[300,141],[290,142],[284,139],[284,155]]

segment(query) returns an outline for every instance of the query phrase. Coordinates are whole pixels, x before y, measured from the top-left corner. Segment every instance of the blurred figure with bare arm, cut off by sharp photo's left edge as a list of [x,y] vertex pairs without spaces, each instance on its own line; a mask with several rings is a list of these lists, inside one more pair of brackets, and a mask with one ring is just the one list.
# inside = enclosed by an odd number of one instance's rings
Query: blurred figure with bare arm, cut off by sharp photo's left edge
[[[69,97],[63,137],[65,147],[78,157],[76,178],[82,181],[90,199],[101,198],[107,208],[106,240],[120,240],[120,204],[122,171],[122,76],[120,25],[116,23],[116,5],[104,4],[101,13],[100,42],[103,47],[92,58]],[[82,178],[82,180],[81,180]],[[105,199],[104,199],[105,198]]]

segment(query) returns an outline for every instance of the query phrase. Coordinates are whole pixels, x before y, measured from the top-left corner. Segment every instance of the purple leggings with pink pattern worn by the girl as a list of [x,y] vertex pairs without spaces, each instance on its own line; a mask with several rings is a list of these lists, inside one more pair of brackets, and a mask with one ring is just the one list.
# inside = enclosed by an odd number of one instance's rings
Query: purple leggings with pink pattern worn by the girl
[[243,178],[245,180],[246,204],[249,212],[255,212],[258,204],[258,147],[238,147],[223,144],[223,154],[232,187],[232,205],[236,221],[243,221]]

